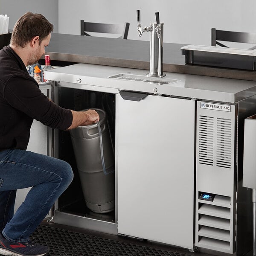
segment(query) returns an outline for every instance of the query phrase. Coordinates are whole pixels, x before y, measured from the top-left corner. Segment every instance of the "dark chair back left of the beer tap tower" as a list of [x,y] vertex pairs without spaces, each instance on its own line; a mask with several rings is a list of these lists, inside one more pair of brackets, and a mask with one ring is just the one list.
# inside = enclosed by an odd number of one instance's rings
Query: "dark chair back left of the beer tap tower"
[[118,38],[127,39],[130,23],[122,24],[107,24],[107,23],[92,23],[81,20],[81,35],[89,35],[87,32],[121,34]]

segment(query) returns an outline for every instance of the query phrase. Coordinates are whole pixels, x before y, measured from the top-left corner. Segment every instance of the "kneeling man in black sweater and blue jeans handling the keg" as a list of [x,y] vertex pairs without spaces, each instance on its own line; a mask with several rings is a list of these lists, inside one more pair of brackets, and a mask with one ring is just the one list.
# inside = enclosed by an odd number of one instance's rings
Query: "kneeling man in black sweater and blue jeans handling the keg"
[[[69,130],[99,121],[95,110],[72,111],[55,105],[39,90],[26,66],[38,62],[53,25],[27,12],[17,20],[10,45],[0,51],[0,254],[39,256],[48,247],[29,240],[55,200],[73,179],[62,160],[26,151],[33,119]],[[32,187],[14,215],[16,189]]]

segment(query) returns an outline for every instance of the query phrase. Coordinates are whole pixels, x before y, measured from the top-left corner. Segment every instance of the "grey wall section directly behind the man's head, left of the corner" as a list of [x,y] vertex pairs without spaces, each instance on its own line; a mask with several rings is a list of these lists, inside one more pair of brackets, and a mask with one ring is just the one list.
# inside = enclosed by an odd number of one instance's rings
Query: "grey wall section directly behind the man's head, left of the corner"
[[58,0],[0,0],[0,14],[9,17],[9,29],[28,11],[44,15],[54,25],[53,32],[58,33]]

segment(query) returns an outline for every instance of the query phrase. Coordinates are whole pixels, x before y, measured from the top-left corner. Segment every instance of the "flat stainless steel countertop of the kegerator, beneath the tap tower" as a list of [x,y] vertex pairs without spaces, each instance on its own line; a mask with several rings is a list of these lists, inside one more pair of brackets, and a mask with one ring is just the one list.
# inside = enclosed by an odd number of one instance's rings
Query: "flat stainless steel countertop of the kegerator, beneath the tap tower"
[[[159,93],[169,96],[180,96],[204,99],[217,102],[235,103],[256,94],[254,81],[237,79],[224,79],[209,76],[195,76],[180,73],[166,73],[164,78],[151,78],[146,76],[145,70],[121,67],[109,67],[93,64],[75,64],[46,71],[46,79],[61,81],[60,86],[68,86],[84,90],[96,90],[118,93],[118,90],[139,91],[145,93]],[[110,78],[118,74],[134,78],[145,78],[155,81],[179,81],[169,84],[158,82],[141,82]],[[118,77],[118,76],[117,76]],[[62,83],[64,82],[64,83]],[[70,85],[70,83],[72,83]],[[156,91],[157,89],[157,91]]]

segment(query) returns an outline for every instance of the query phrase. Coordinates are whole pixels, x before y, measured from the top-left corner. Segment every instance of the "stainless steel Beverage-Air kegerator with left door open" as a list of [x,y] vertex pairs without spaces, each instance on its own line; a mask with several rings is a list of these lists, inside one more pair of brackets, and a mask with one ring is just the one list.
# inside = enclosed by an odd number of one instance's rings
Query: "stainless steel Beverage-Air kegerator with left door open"
[[252,249],[251,192],[242,186],[244,119],[256,113],[253,81],[75,64],[46,72],[65,108],[103,108],[115,153],[115,207],[87,209],[69,132],[55,157],[74,181],[54,221],[120,236],[244,255]]

